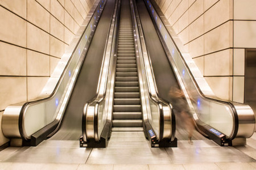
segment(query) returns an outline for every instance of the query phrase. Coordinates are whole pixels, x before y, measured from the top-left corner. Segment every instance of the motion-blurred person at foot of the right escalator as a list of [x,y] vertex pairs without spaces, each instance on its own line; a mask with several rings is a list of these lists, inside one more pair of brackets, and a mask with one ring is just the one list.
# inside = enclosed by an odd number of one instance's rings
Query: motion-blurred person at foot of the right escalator
[[171,87],[169,95],[172,98],[172,105],[174,106],[174,109],[177,112],[177,116],[181,118],[182,123],[188,132],[188,143],[192,145],[193,141],[191,140],[191,138],[195,127],[193,125],[192,114],[190,113],[190,110],[188,108],[185,96],[183,92],[177,87]]

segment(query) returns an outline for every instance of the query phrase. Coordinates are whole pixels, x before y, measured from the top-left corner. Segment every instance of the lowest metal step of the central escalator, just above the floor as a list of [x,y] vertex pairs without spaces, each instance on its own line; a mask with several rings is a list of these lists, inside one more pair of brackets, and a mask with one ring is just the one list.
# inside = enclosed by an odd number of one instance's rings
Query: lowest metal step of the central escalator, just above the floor
[[113,120],[113,127],[142,127],[142,120]]

